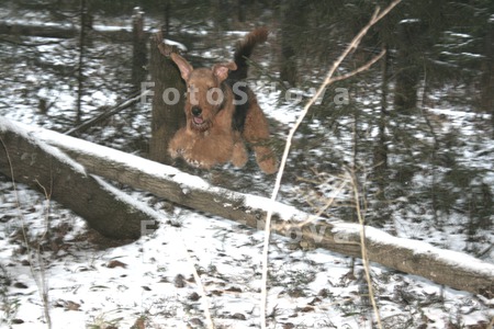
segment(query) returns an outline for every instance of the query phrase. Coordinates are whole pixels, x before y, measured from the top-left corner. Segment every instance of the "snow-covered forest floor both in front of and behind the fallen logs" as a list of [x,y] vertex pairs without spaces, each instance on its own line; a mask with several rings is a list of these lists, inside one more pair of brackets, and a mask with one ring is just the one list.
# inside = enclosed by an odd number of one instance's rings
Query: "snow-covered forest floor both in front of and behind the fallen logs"
[[[70,46],[70,41],[44,44],[35,47],[33,54],[41,53],[46,61],[70,66],[75,58],[74,53],[66,50]],[[103,45],[96,47],[98,52],[104,49]],[[16,53],[19,48],[5,45],[0,55],[10,56],[9,52]],[[114,69],[111,64],[105,68],[108,61],[91,68],[108,76]],[[40,67],[27,67],[23,60],[19,65],[11,63],[11,67],[23,73],[0,73],[5,81],[0,116],[67,129],[74,115],[74,81],[60,79],[55,71],[46,73]],[[267,114],[284,126],[281,133],[287,131],[300,106],[280,103],[280,90],[256,92]],[[36,110],[40,98],[53,103],[46,114]],[[117,98],[117,89],[90,89],[87,116],[98,106],[114,104]],[[448,115],[464,134],[474,134],[473,125],[465,118],[471,114],[434,111]],[[122,147],[127,140],[119,136],[119,131],[148,134],[148,112],[124,113],[88,139]],[[464,158],[475,157],[472,163],[492,171],[494,155],[490,143],[482,141],[484,148],[475,155],[469,155],[470,148],[465,147]],[[485,151],[490,147],[491,151]],[[487,175],[486,183],[492,184],[492,174]],[[248,185],[259,181],[262,184],[258,190],[269,194],[271,181],[257,173],[242,189],[249,192]],[[296,191],[294,184],[287,184],[283,190],[287,195]],[[56,202],[0,177],[0,327],[47,328],[49,315],[53,328],[204,328],[207,308],[216,328],[258,328],[263,234],[224,218],[171,206],[144,192],[125,192],[158,212],[161,225],[137,241],[119,243],[88,229],[81,218]],[[282,201],[290,203],[294,198]],[[438,231],[427,224],[430,220],[408,220],[405,216],[396,219],[390,230],[461,251],[469,249],[465,234],[454,229],[461,220],[465,218],[451,217]],[[486,231],[484,239],[482,248],[490,248],[492,231]],[[485,261],[493,261],[492,252],[486,253]],[[359,260],[352,264],[350,258],[327,250],[301,250],[290,240],[273,236],[269,263],[269,328],[375,326]],[[193,269],[200,274],[201,285],[192,276]],[[371,275],[384,328],[486,328],[494,317],[493,299],[377,264],[371,266]]]

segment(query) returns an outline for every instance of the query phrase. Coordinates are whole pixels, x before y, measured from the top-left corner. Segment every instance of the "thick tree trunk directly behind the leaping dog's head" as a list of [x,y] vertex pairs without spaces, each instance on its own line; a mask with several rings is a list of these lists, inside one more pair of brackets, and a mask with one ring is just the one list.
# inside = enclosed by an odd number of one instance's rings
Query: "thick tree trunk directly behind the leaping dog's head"
[[160,36],[150,38],[149,69],[154,95],[149,158],[157,162],[171,163],[168,144],[175,133],[186,125],[183,112],[186,84],[175,63],[158,49],[161,41]]

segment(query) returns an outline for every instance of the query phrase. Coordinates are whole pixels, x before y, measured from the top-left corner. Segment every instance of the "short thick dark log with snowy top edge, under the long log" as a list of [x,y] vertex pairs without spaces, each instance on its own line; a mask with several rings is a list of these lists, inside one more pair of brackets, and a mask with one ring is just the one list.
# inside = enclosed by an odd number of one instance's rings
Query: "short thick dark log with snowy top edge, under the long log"
[[[158,215],[67,157],[31,136],[25,126],[0,117],[0,172],[29,184],[83,217],[110,238],[137,239]],[[150,225],[153,224],[153,225]]]

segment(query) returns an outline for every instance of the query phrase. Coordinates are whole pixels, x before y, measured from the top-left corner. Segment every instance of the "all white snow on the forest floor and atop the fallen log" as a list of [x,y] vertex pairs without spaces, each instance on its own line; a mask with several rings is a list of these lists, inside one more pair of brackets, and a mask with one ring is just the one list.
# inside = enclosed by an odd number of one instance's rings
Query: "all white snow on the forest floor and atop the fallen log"
[[[25,22],[29,23],[30,20]],[[114,25],[97,29],[115,31],[128,27]],[[189,32],[200,36],[209,33],[204,30]],[[232,32],[235,38],[242,34],[245,32]],[[38,49],[44,53],[50,48],[54,46],[42,45]],[[67,64],[67,58],[59,56],[53,56],[50,60],[60,65]],[[58,109],[54,111],[54,116],[71,113],[63,111],[71,109],[75,103],[74,88],[70,83],[61,81],[58,89],[45,88],[46,78],[43,78],[43,75],[37,71],[30,72],[26,67],[19,68],[24,70],[25,81],[32,88],[36,87],[35,94],[43,95],[49,101],[56,100]],[[300,106],[290,103],[283,97],[281,99],[284,102],[280,103],[280,89],[272,90],[270,86],[266,88],[257,81],[256,86],[259,86],[254,89],[262,109],[281,123],[280,135],[282,135],[283,129],[288,131],[294,122]],[[90,92],[96,97],[91,98],[94,101],[93,106],[111,104],[117,97],[117,93],[109,91]],[[304,98],[307,97],[302,90],[297,92]],[[36,127],[35,124],[45,124],[44,121],[47,118],[32,111],[33,103],[21,103],[18,98],[19,94],[12,92],[12,97],[7,99],[9,109],[0,109],[0,114],[22,123],[0,120],[0,131],[5,127],[27,129],[32,143],[40,144],[36,141],[40,139],[48,144],[50,140],[65,143],[64,148],[82,149],[88,154],[109,159],[116,158],[127,162],[130,168],[138,168],[156,177],[172,179],[182,186],[184,194],[190,193],[192,189],[217,189],[215,191],[226,192],[205,179],[171,167],[165,168],[109,148],[98,148],[78,138],[59,138],[56,133]],[[372,106],[375,100],[364,102]],[[473,125],[468,124],[468,120],[479,117],[480,114],[446,106],[430,111],[453,117],[448,126],[457,125],[462,132],[470,129],[469,133],[475,135],[476,131]],[[143,125],[146,120],[141,118],[139,124]],[[351,124],[351,121],[348,121],[348,124]],[[50,125],[53,123],[46,123],[45,126],[52,127]],[[319,122],[314,122],[312,126],[324,128]],[[110,127],[105,128],[104,134],[108,137],[114,136],[110,134]],[[350,137],[344,136],[343,139],[345,138]],[[334,144],[335,152],[345,154],[345,144]],[[47,148],[57,157],[64,158],[64,161],[75,164],[64,152],[49,146]],[[318,149],[313,151],[322,152]],[[471,161],[470,166],[492,171],[492,158],[481,156],[481,151],[467,152],[465,149],[464,157],[478,160]],[[79,170],[85,171],[80,166]],[[492,185],[493,181],[493,174],[486,175],[485,183]],[[12,325],[13,328],[46,328],[43,317],[44,302],[40,296],[42,287],[36,283],[44,272],[53,328],[108,328],[110,325],[130,328],[141,317],[146,319],[146,328],[188,326],[202,328],[199,320],[204,324],[204,300],[192,298],[194,293],[200,295],[199,286],[191,281],[194,266],[200,273],[214,322],[218,328],[259,327],[263,241],[261,231],[178,206],[169,209],[165,201],[156,200],[144,192],[132,190],[122,192],[101,182],[119,193],[126,202],[142,207],[157,218],[160,223],[159,228],[127,245],[99,246],[98,242],[87,238],[88,228],[85,222],[70,211],[61,208],[56,202],[46,201],[43,195],[22,184],[13,191],[8,180],[0,180],[0,222],[3,226],[0,230],[0,258],[2,269],[12,280],[7,293],[0,293],[0,303],[2,306],[13,307],[11,314],[5,313],[4,307],[1,308],[0,324],[9,325],[9,320],[22,319],[24,322]],[[413,183],[416,182],[411,182]],[[289,190],[293,188],[290,182],[284,186]],[[272,207],[282,218],[301,219],[305,215],[291,205],[266,202],[266,198],[244,193],[238,195],[244,197],[246,206],[265,209]],[[395,202],[407,202],[407,198],[403,196]],[[413,216],[415,215],[408,217]],[[419,223],[411,223],[407,219],[398,223],[395,219],[394,229],[401,237],[413,236],[427,239],[435,245],[440,242],[445,248],[463,250],[464,234],[454,231],[454,223],[460,223],[461,218],[452,216],[449,218],[450,222],[447,222],[448,225],[445,225],[444,231],[431,232],[429,224],[431,218],[427,216],[430,214],[420,217]],[[261,224],[262,220],[259,220],[259,225]],[[343,236],[359,230],[359,227],[352,224],[332,224],[334,231]],[[42,239],[47,225],[50,227],[52,240]],[[30,245],[22,238],[22,230],[25,230]],[[55,239],[58,236],[61,241]],[[472,270],[491,275],[493,273],[492,265],[484,265],[485,263],[460,252],[439,249],[417,240],[396,239],[371,228],[367,229],[367,236],[372,241],[385,239],[400,248],[427,251],[448,260],[450,264],[470,266]],[[486,241],[489,245],[492,237],[487,237]],[[349,273],[351,266],[349,258],[322,249],[301,250],[293,242],[293,239],[277,235],[271,239],[268,311],[272,313],[272,317],[269,328],[283,326],[290,328],[289,324],[294,328],[371,328],[372,315],[366,294],[362,293],[366,283],[362,280],[362,265],[359,260],[356,260],[355,271]],[[40,250],[43,251],[38,251],[37,246],[42,246],[43,249]],[[27,247],[30,248],[26,250]],[[26,265],[30,259],[31,266]],[[112,261],[122,262],[125,268],[109,266]],[[492,258],[487,257],[486,261],[492,261]],[[175,282],[179,274],[186,279],[183,287],[179,287]],[[441,287],[422,277],[396,273],[377,264],[371,266],[371,275],[385,328],[414,328],[420,325],[427,328],[473,326],[485,322],[494,316],[492,299],[482,296]],[[0,272],[0,279],[2,276],[3,273]],[[22,283],[26,287],[15,283]]]

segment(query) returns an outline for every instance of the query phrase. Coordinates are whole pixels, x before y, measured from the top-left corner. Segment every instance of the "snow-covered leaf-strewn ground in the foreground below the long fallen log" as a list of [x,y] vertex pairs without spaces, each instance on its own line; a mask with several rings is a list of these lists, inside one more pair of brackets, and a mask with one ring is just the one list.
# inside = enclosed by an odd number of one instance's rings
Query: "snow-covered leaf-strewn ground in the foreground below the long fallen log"
[[[130,328],[139,319],[146,328],[203,328],[206,306],[217,328],[259,326],[262,232],[191,211],[164,211],[157,202],[150,206],[161,215],[160,228],[112,247],[69,211],[54,203],[48,208],[38,193],[18,185],[18,205],[10,183],[0,191],[0,277],[10,281],[2,294],[4,324],[45,328],[47,305],[53,328]],[[299,250],[278,236],[269,260],[270,328],[371,328],[359,261],[351,272],[349,258]],[[385,328],[472,326],[492,317],[482,297],[379,265],[371,273]]]

